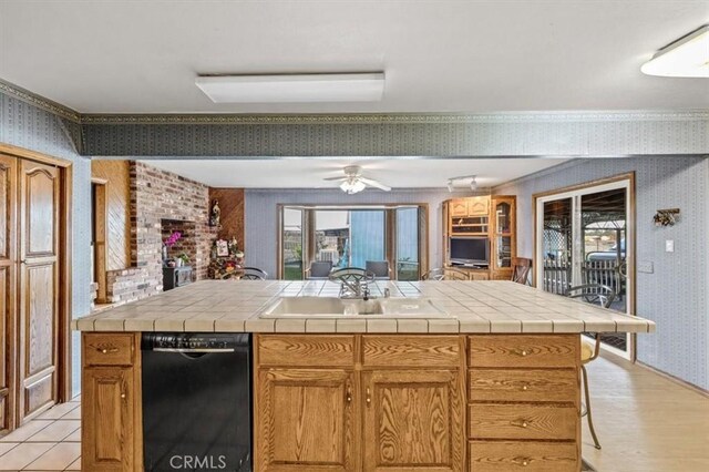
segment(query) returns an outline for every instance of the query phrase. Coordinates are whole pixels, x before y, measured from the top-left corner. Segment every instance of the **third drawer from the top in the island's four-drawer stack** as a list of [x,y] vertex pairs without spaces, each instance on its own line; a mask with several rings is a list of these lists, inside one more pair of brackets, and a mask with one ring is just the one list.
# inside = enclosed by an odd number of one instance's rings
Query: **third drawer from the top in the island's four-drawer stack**
[[572,406],[475,403],[469,413],[473,439],[574,440],[578,427],[578,409]]

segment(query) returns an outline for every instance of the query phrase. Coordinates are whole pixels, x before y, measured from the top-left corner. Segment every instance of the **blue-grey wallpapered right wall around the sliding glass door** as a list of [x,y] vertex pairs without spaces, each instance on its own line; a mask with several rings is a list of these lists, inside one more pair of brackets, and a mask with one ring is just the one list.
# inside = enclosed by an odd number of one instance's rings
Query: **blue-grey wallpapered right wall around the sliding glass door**
[[[636,175],[637,261],[654,273],[637,274],[637,314],[657,324],[637,336],[638,360],[709,389],[709,158],[599,158],[561,164],[501,185],[517,195],[517,252],[533,255],[532,195],[627,172]],[[658,208],[680,208],[679,222],[656,227]],[[665,240],[675,240],[675,253]]]

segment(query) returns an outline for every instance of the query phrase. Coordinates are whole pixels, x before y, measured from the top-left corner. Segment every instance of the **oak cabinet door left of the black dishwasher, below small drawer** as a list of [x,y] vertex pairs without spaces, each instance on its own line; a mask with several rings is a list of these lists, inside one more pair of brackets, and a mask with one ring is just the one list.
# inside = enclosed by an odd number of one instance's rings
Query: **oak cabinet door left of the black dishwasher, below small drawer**
[[133,368],[84,368],[81,401],[81,462],[88,471],[125,471],[134,466]]

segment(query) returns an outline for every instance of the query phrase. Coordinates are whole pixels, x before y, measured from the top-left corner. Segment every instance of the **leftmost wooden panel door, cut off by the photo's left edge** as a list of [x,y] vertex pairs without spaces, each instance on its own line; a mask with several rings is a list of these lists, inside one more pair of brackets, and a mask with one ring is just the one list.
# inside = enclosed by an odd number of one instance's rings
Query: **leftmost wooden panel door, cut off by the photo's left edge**
[[0,155],[0,435],[14,427],[17,160]]

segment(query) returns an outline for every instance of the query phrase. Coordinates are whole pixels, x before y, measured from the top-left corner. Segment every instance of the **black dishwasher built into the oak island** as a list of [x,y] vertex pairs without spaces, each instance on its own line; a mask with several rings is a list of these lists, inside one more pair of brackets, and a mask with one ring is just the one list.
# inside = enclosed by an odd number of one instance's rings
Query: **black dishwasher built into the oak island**
[[146,472],[251,471],[250,335],[143,335]]

